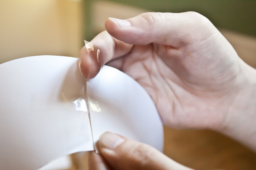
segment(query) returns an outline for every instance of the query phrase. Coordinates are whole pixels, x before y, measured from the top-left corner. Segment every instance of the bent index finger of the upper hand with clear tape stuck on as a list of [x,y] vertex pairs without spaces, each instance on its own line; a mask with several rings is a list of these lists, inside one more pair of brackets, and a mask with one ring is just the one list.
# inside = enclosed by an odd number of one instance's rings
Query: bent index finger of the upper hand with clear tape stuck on
[[111,59],[127,54],[131,48],[131,44],[113,38],[107,31],[99,33],[80,50],[79,66],[83,76],[89,79],[95,77],[101,66]]

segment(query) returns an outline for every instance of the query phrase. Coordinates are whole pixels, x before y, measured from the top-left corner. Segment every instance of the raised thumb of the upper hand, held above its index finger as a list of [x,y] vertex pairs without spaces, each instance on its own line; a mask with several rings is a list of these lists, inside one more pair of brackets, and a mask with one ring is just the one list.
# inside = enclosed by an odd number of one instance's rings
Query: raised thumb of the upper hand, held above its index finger
[[204,39],[205,30],[207,36],[209,31],[216,30],[207,18],[196,12],[147,12],[127,20],[108,18],[105,28],[110,35],[129,44],[155,42],[177,48]]

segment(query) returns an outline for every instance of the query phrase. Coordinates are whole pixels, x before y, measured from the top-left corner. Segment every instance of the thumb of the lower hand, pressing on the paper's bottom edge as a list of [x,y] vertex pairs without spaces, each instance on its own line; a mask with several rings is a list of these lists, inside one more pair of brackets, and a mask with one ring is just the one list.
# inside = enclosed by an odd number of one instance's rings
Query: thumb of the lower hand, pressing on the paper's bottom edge
[[99,137],[98,149],[113,169],[191,170],[147,144],[111,132],[105,132]]

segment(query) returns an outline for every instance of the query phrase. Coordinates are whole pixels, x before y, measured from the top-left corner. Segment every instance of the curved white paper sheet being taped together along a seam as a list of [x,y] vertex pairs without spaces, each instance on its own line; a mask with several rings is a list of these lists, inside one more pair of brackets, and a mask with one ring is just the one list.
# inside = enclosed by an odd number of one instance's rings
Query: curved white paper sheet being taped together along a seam
[[94,150],[92,137],[96,142],[105,131],[162,149],[159,115],[136,81],[108,66],[89,81],[93,134],[84,83],[76,58],[35,56],[0,64],[0,169],[34,170]]

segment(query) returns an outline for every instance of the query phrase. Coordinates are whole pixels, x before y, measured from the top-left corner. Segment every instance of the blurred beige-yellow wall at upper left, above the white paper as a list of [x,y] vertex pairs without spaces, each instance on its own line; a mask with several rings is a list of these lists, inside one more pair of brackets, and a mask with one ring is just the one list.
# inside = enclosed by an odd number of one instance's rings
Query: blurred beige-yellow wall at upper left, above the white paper
[[77,57],[82,1],[0,0],[0,63],[35,55]]

